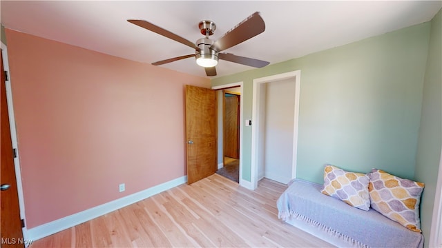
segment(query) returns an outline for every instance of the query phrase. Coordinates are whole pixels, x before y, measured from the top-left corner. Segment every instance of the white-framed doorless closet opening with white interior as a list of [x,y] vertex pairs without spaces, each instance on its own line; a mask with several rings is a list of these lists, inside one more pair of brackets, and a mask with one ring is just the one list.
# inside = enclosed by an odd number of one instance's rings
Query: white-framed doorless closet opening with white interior
[[253,79],[251,189],[296,178],[300,70]]

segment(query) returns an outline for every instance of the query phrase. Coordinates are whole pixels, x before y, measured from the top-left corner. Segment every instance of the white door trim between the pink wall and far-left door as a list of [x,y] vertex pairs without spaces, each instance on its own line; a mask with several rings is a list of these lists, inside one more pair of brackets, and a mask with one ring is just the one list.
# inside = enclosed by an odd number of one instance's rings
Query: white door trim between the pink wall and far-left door
[[[11,74],[9,70],[9,61],[8,61],[8,48],[3,42],[1,42],[1,50],[3,56],[3,70],[8,71],[8,80],[6,83],[6,101],[8,102],[8,115],[9,115],[9,126],[11,133],[11,141],[12,148],[15,148],[17,151],[17,158],[14,158],[14,167],[15,167],[15,177],[17,180],[17,193],[19,195],[19,208],[20,208],[20,218],[25,220],[26,224],[26,215],[25,215],[25,202],[23,196],[23,184],[21,182],[21,167],[19,160],[19,145],[17,142],[17,130],[15,128],[15,114],[14,114],[14,105],[12,103],[12,88],[11,88]],[[28,239],[26,227],[23,227],[23,238],[25,240]]]

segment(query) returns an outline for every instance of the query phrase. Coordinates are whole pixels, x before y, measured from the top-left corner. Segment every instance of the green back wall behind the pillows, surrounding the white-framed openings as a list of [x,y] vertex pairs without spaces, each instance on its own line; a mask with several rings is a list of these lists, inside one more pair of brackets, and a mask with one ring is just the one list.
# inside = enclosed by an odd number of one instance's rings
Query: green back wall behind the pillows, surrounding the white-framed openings
[[[325,163],[414,178],[429,39],[430,22],[422,23],[211,83],[244,81],[245,120],[253,79],[300,70],[298,178],[323,183]],[[242,177],[250,180],[251,127],[242,128]]]

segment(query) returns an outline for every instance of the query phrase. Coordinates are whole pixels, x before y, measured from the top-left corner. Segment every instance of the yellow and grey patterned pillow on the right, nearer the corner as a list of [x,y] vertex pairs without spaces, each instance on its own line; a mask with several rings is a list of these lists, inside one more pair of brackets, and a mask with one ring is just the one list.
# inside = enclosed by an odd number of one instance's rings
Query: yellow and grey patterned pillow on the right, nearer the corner
[[372,208],[412,231],[421,232],[419,203],[425,184],[372,169],[369,194]]

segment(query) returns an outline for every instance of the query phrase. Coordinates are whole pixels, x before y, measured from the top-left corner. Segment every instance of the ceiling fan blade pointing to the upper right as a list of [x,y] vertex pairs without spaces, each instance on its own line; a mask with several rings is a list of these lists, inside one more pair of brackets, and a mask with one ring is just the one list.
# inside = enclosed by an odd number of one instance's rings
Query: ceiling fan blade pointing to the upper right
[[225,33],[223,37],[215,41],[215,43],[211,45],[211,49],[218,52],[226,50],[227,48],[238,45],[252,37],[256,37],[256,35],[264,32],[264,30],[264,20],[262,20],[260,12],[255,12],[251,14],[250,17],[247,17],[247,19],[236,25],[235,28]]

